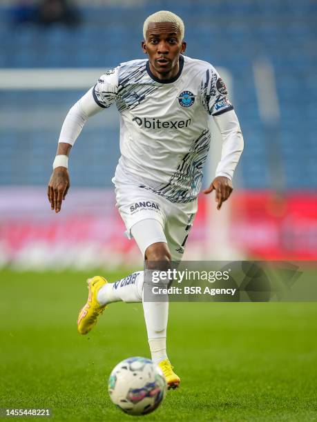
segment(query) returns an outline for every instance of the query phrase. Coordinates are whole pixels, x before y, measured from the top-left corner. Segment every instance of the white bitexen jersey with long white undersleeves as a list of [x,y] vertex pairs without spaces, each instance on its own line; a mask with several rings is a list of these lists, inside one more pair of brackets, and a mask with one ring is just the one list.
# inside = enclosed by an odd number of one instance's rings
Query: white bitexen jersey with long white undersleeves
[[59,142],[73,145],[88,117],[113,103],[121,151],[114,183],[132,179],[171,202],[193,201],[202,188],[210,115],[223,139],[215,175],[232,179],[243,138],[227,88],[210,63],[181,56],[178,74],[168,81],[152,74],[147,59],[120,64],[70,109]]

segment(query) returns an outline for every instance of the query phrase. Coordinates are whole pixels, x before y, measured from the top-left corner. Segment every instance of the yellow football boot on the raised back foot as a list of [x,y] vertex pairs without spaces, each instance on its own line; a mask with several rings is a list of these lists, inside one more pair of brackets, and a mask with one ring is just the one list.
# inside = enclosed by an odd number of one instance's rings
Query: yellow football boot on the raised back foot
[[87,334],[97,323],[98,316],[104,312],[106,305],[100,305],[97,301],[99,289],[107,283],[104,277],[95,276],[87,280],[88,300],[78,315],[77,328],[79,334]]

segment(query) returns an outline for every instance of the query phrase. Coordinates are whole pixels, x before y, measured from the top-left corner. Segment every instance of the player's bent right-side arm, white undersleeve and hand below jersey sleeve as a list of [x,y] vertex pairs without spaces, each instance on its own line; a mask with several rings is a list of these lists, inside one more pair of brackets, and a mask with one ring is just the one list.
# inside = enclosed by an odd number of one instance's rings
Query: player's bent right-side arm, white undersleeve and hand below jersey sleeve
[[227,201],[233,190],[233,172],[242,154],[244,143],[238,117],[234,110],[215,114],[213,119],[222,136],[222,154],[215,172],[215,179],[203,192],[209,194],[215,190],[215,201],[220,210],[222,203]]

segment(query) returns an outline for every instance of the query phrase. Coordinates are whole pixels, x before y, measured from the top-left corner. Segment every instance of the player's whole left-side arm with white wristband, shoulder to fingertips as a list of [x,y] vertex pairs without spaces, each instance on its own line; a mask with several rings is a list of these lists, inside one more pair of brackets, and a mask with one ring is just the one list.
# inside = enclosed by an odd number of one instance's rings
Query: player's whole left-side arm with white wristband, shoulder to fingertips
[[115,101],[117,96],[117,71],[118,68],[115,68],[103,74],[98,83],[70,108],[66,116],[59,136],[52,176],[48,182],[48,201],[55,212],[61,210],[61,203],[70,187],[68,174],[70,149],[89,117],[108,108]]

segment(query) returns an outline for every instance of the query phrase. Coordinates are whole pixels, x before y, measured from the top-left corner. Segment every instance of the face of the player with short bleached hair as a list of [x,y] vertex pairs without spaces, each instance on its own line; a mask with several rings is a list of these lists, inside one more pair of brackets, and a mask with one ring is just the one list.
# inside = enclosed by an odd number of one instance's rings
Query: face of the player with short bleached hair
[[186,50],[186,43],[175,23],[151,22],[142,49],[148,55],[151,72],[164,81],[175,77],[180,70],[180,54]]

